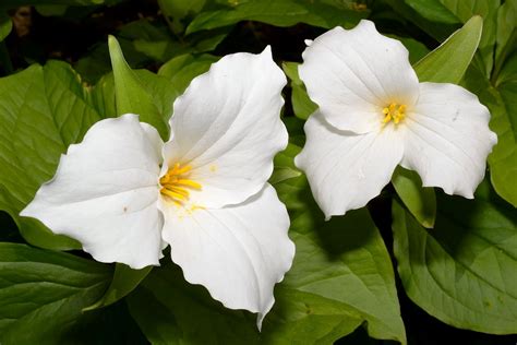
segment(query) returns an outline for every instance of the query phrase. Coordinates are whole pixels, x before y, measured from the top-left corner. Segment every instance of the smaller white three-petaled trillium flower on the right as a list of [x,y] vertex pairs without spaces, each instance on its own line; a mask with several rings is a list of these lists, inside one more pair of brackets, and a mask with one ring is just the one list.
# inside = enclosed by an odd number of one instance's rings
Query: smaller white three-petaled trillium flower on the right
[[296,165],[326,218],[364,206],[399,164],[424,187],[473,198],[497,142],[476,95],[419,83],[408,50],[370,21],[314,39],[299,73],[320,108],[305,123]]

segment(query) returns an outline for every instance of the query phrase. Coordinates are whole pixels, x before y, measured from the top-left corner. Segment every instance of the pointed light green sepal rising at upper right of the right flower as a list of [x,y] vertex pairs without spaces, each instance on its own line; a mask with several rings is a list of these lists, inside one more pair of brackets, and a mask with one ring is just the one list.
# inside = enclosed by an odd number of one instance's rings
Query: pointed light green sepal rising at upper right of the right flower
[[483,20],[473,16],[440,47],[414,64],[420,82],[457,84],[478,48]]

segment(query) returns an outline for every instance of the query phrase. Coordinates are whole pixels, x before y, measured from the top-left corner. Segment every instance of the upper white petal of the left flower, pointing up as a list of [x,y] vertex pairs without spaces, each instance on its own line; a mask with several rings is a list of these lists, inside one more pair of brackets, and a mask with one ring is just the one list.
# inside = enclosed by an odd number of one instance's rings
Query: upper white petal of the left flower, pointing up
[[288,141],[279,117],[285,85],[267,47],[261,55],[224,57],[175,102],[165,169],[192,167],[189,179],[202,185],[191,191],[192,202],[236,204],[263,188]]

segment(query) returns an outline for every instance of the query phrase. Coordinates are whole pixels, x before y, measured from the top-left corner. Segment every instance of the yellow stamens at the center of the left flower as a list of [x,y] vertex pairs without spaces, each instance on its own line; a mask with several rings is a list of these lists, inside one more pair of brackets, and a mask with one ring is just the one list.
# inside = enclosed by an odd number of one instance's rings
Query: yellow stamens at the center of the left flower
[[201,189],[200,183],[189,179],[190,170],[192,170],[190,165],[181,166],[179,163],[176,163],[159,179],[161,185],[159,192],[179,206],[189,200],[189,189]]

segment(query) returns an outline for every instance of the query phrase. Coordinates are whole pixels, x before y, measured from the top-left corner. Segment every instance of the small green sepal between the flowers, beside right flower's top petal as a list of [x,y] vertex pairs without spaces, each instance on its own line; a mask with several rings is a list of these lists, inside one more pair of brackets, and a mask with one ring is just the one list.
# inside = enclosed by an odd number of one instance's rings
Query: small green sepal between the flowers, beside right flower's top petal
[[291,103],[292,103],[292,110],[294,115],[302,119],[306,120],[311,114],[313,114],[317,109],[317,105],[309,98],[306,94],[305,85],[300,80],[298,75],[298,66],[297,62],[284,62],[281,68],[284,72],[289,76],[291,80]]

